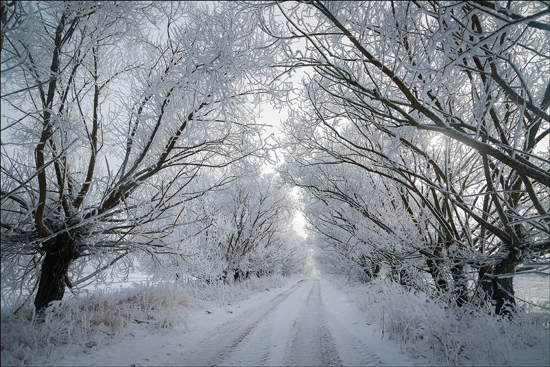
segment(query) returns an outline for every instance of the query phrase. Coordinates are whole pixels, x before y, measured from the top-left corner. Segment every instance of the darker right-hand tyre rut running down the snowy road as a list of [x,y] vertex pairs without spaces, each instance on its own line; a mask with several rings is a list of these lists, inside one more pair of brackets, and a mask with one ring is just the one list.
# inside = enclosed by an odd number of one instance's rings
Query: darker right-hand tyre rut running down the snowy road
[[324,317],[321,303],[321,285],[313,282],[309,296],[294,321],[287,341],[283,365],[286,366],[341,366],[338,349]]

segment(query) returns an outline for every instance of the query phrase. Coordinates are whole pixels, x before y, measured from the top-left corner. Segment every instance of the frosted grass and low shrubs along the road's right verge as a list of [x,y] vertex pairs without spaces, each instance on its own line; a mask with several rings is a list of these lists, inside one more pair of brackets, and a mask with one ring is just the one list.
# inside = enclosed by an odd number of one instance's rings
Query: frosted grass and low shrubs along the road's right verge
[[548,314],[529,307],[508,319],[496,316],[491,305],[449,306],[427,292],[406,290],[384,279],[343,289],[383,325],[384,335],[408,344],[413,355],[431,350],[437,364],[510,365],[521,363],[514,360],[516,349],[548,351]]

